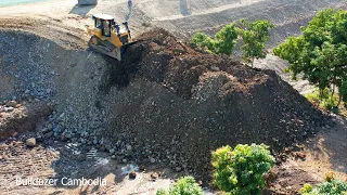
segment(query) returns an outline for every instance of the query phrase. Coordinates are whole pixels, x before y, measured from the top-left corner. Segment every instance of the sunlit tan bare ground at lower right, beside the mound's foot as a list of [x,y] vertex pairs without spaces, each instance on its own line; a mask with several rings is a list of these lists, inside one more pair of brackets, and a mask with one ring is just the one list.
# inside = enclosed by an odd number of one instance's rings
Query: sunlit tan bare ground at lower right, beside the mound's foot
[[279,155],[280,165],[273,168],[274,180],[269,191],[274,194],[297,194],[305,183],[317,184],[324,181],[327,172],[334,172],[335,178],[347,181],[346,125],[344,117],[334,116],[334,127],[319,129],[317,135],[283,150]]

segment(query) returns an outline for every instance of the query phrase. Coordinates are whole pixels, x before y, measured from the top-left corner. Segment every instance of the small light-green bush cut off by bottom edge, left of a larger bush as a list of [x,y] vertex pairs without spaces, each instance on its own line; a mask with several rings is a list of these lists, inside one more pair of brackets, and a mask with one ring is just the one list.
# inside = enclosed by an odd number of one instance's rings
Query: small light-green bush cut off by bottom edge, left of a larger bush
[[156,195],[203,195],[203,188],[198,186],[193,177],[180,178],[169,191],[163,188],[156,192]]

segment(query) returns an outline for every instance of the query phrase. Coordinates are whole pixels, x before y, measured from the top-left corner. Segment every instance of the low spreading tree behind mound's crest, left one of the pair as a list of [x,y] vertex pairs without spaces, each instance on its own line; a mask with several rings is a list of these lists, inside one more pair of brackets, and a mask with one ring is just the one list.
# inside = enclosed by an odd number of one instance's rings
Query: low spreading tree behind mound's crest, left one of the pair
[[237,31],[235,24],[229,24],[216,34],[215,39],[211,39],[205,34],[196,32],[192,41],[202,49],[207,49],[209,52],[230,55],[236,43],[236,39]]

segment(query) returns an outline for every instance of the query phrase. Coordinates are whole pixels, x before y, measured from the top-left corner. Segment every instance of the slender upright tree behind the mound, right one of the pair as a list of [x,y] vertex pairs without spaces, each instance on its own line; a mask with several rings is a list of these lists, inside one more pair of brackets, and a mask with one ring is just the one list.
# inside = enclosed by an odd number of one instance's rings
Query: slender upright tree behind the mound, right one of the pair
[[241,47],[243,51],[243,60],[247,63],[254,64],[255,58],[265,58],[267,52],[265,51],[265,43],[270,37],[270,28],[274,25],[269,21],[255,21],[248,23],[241,20],[243,28],[237,28],[237,31],[244,42]]

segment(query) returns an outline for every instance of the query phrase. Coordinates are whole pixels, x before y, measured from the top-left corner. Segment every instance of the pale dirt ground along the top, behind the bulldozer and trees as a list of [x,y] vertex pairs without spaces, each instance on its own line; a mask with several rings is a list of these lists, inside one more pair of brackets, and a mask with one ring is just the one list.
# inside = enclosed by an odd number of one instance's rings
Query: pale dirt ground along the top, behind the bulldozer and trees
[[[299,32],[299,26],[306,24],[319,10],[344,5],[344,0],[144,0],[133,1],[129,23],[134,32],[142,31],[145,28],[142,25],[149,23],[190,38],[195,31],[214,32],[240,18],[262,18],[278,26],[270,41],[270,46],[275,46],[288,35]],[[184,9],[188,13],[184,13]],[[92,14],[108,13],[117,21],[124,21],[128,8],[126,0],[103,0],[97,6],[79,6],[74,1],[62,0],[0,8],[0,11],[2,17],[51,18],[85,29],[83,25],[91,24],[88,18]]]

